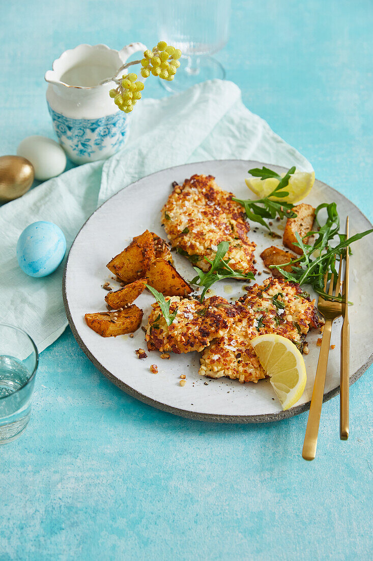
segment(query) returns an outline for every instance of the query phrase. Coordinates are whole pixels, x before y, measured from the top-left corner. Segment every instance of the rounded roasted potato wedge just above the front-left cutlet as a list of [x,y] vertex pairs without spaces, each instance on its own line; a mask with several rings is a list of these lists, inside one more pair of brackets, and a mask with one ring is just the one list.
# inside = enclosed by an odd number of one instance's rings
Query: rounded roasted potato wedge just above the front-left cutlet
[[187,296],[193,289],[164,259],[153,261],[146,273],[147,283],[165,296]]

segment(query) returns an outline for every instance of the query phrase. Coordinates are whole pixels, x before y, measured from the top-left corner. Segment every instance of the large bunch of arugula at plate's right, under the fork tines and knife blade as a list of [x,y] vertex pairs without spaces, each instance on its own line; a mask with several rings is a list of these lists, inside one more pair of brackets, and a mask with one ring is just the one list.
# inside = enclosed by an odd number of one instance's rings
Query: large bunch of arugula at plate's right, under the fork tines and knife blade
[[[319,212],[321,209],[327,210],[327,220],[325,224],[321,225],[319,222]],[[344,234],[339,233],[339,215],[337,212],[337,205],[335,203],[323,203],[318,206],[315,210],[315,224],[319,229],[317,231],[307,232],[304,236],[317,236],[315,243],[313,245],[303,242],[303,238],[300,237],[299,233],[296,232],[297,241],[294,245],[300,247],[302,254],[296,259],[291,259],[288,263],[283,263],[281,265],[269,265],[270,269],[278,269],[283,277],[292,282],[302,284],[310,284],[314,291],[322,295],[327,300],[339,300],[343,301],[342,296],[329,296],[324,292],[324,276],[328,272],[328,278],[334,273],[334,285],[337,282],[338,272],[336,269],[337,261],[343,259],[346,254],[347,247],[348,251],[349,245],[351,243],[360,240],[362,237],[367,236],[373,232],[373,229],[366,230],[355,234],[346,239]],[[330,242],[337,238],[339,243],[332,247]],[[299,264],[300,266],[294,266]],[[292,265],[292,272],[288,273],[284,270],[287,265]],[[308,293],[302,293],[302,295]]]

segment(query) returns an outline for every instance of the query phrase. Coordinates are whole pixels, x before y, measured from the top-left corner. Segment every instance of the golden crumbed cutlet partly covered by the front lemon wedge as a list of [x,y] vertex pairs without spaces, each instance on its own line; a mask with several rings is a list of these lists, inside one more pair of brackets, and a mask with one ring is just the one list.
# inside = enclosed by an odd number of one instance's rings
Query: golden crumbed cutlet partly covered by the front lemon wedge
[[260,286],[254,284],[236,303],[239,319],[204,350],[199,374],[209,378],[237,378],[241,383],[264,378],[250,339],[277,333],[302,351],[310,327],[319,327],[314,304],[296,283],[269,278]]

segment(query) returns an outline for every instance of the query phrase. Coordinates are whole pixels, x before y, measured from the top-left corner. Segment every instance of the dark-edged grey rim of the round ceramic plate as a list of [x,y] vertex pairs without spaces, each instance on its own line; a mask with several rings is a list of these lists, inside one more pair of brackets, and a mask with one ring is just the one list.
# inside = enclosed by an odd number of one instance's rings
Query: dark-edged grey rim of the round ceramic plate
[[[206,160],[206,162],[194,162],[194,163],[197,165],[197,164],[204,164],[204,163],[208,164],[208,163],[217,162],[217,161],[218,162],[232,162],[232,163],[234,163],[234,162],[246,162],[246,160],[231,160],[231,159],[228,159],[228,160]],[[249,161],[249,160],[247,160],[247,161]],[[175,165],[173,167],[165,168],[165,169],[171,169],[171,170],[172,169],[178,169],[178,168],[184,167],[184,165],[185,164]],[[274,164],[260,163],[260,165],[265,165],[267,167],[267,166],[274,165]],[[282,167],[282,166],[277,165],[277,167]],[[87,218],[86,222],[80,228],[79,232],[76,234],[76,237],[75,237],[73,243],[71,244],[71,247],[69,249],[69,253],[67,255],[64,271],[63,271],[62,297],[63,297],[64,306],[65,306],[67,320],[68,320],[69,326],[71,328],[72,334],[74,335],[74,338],[76,339],[78,345],[80,346],[82,351],[85,353],[85,355],[90,359],[92,364],[94,364],[94,366],[97,368],[97,370],[99,370],[102,374],[104,374],[106,376],[106,378],[108,378],[113,384],[118,386],[118,388],[123,390],[125,393],[128,393],[129,396],[132,396],[132,397],[138,399],[139,401],[142,401],[143,403],[146,403],[147,405],[151,405],[152,407],[155,407],[156,409],[159,409],[161,411],[166,411],[167,413],[172,413],[173,415],[178,415],[179,417],[185,417],[185,419],[193,419],[193,420],[197,420],[197,421],[208,421],[208,422],[222,422],[222,423],[242,423],[242,424],[244,424],[244,423],[258,423],[258,422],[275,422],[275,421],[281,421],[282,419],[289,419],[290,417],[293,417],[294,415],[299,415],[299,413],[303,413],[304,411],[309,410],[310,403],[311,403],[310,401],[308,401],[307,403],[303,403],[302,405],[298,405],[296,407],[291,407],[287,411],[280,411],[279,413],[268,413],[268,414],[265,414],[265,415],[212,415],[212,413],[198,413],[198,412],[188,411],[188,410],[185,410],[185,409],[179,409],[178,407],[172,407],[170,405],[166,405],[165,403],[157,401],[156,399],[152,399],[150,397],[144,396],[144,394],[142,394],[141,392],[137,392],[137,390],[134,390],[132,387],[125,384],[122,380],[119,380],[118,378],[116,378],[113,374],[111,374],[111,372],[109,370],[107,370],[101,364],[101,362],[99,362],[96,359],[96,357],[94,355],[92,355],[92,353],[88,350],[88,348],[83,343],[80,335],[77,332],[77,329],[74,325],[74,322],[72,320],[69,305],[68,305],[68,301],[67,301],[67,297],[66,297],[66,271],[67,271],[67,265],[68,265],[68,261],[69,261],[69,255],[70,255],[71,248],[74,245],[74,242],[75,242],[76,238],[78,237],[78,235],[80,234],[82,229],[85,227],[88,220],[90,220],[92,215],[94,215],[97,212],[97,210],[99,210],[101,208],[101,206],[103,206],[108,200],[110,200],[112,197],[115,197],[116,195],[118,195],[118,193],[120,193],[121,191],[126,190],[128,187],[132,187],[133,185],[136,185],[136,183],[138,183],[139,181],[143,181],[144,179],[146,179],[148,177],[152,177],[152,176],[157,175],[158,173],[164,172],[165,169],[161,169],[158,172],[150,173],[148,176],[141,177],[141,179],[139,179],[137,181],[134,181],[133,183],[130,183],[129,185],[127,185],[127,187],[124,187],[123,189],[120,189],[118,192],[116,192],[114,195],[111,195],[111,197],[109,197],[109,199],[107,199],[104,203],[102,203],[102,205],[100,205],[91,214],[91,216],[89,218]],[[286,168],[283,168],[283,170],[286,171]],[[370,220],[367,219],[365,214],[363,214],[362,211],[356,205],[354,205],[349,199],[347,199],[347,197],[342,195],[342,193],[340,193],[339,191],[337,191],[333,187],[330,187],[329,185],[327,185],[327,183],[323,183],[322,181],[319,181],[319,183],[321,183],[321,185],[325,185],[325,187],[328,187],[332,191],[337,192],[340,196],[342,196],[344,199],[346,199],[348,201],[348,203],[351,204],[352,206],[354,206],[356,208],[356,210],[362,215],[362,217],[373,228],[373,225],[370,223]],[[371,356],[369,357],[369,359],[367,360],[367,362],[365,364],[363,364],[355,373],[353,373],[349,376],[349,385],[352,385],[353,383],[355,383],[356,380],[358,380],[358,378],[360,378],[360,376],[362,376],[365,373],[365,371],[369,368],[369,366],[372,364],[372,362],[373,362],[373,353],[371,354]],[[338,393],[339,393],[339,386],[330,390],[330,392],[325,393],[324,398],[323,398],[323,403],[325,403],[325,401],[329,401],[329,399],[336,396]]]

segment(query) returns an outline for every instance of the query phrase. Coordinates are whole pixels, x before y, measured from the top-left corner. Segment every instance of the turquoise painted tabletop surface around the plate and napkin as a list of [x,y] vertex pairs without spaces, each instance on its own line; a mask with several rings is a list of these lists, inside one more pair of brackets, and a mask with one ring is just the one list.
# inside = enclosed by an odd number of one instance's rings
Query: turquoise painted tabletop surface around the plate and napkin
[[[162,17],[150,0],[1,12],[0,154],[53,136],[43,76],[63,50],[152,46]],[[370,220],[372,28],[371,0],[233,0],[217,54],[249,109]],[[165,95],[156,80],[145,91]],[[0,448],[0,560],[371,559],[371,373],[351,388],[348,442],[334,398],[306,463],[306,413],[248,426],[162,413],[110,384],[66,329],[41,353],[26,433]]]

